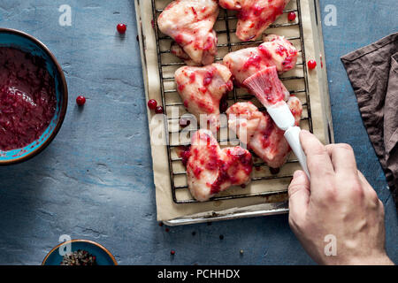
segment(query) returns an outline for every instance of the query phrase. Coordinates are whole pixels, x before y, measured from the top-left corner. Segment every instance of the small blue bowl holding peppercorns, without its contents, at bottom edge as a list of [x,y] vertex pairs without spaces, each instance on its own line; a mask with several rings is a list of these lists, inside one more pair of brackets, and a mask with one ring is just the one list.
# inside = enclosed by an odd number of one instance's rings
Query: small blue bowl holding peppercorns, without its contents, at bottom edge
[[60,243],[57,247],[51,249],[50,253],[44,257],[42,265],[60,265],[63,256],[60,255],[59,249],[64,250],[67,244],[71,244],[72,252],[81,249],[87,250],[89,254],[96,256],[96,264],[98,265],[118,265],[115,257],[111,255],[108,249],[105,249],[95,241],[88,240],[71,240]]

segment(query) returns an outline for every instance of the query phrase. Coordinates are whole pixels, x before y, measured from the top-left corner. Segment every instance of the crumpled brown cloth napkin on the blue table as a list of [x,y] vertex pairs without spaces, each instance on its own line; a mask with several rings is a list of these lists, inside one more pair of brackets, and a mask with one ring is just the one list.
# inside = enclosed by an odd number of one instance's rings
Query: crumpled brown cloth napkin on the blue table
[[341,61],[398,208],[398,33],[351,52]]

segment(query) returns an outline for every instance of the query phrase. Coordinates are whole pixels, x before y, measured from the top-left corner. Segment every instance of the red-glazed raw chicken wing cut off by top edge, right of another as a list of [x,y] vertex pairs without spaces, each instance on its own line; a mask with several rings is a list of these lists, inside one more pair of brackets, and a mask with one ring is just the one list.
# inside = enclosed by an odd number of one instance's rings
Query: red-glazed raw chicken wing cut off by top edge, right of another
[[219,0],[221,7],[239,11],[236,35],[243,42],[256,38],[277,19],[290,0]]

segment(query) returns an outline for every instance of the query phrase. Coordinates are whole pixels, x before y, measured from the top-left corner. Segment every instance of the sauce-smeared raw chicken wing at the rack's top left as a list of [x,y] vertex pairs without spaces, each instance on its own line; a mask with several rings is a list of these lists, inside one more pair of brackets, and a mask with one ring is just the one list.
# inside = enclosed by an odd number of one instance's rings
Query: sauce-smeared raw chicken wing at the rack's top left
[[159,15],[157,23],[182,49],[172,46],[172,53],[189,65],[209,65],[217,53],[213,26],[218,12],[217,0],[176,0]]

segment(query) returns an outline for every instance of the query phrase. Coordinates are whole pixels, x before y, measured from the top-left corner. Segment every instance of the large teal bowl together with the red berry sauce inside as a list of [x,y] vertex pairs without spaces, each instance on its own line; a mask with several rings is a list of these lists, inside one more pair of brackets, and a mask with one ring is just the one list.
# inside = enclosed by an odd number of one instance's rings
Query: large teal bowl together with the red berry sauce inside
[[0,165],[42,152],[65,119],[64,72],[32,35],[0,28]]

